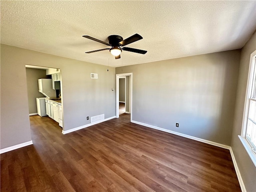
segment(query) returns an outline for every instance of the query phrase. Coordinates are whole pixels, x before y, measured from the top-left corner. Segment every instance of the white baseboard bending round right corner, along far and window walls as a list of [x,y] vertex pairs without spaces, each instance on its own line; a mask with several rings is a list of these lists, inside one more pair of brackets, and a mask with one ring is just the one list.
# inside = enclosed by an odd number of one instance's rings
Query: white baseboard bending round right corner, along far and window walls
[[146,127],[149,127],[149,128],[153,128],[153,129],[156,129],[156,130],[164,131],[164,132],[167,132],[167,133],[171,133],[171,134],[174,134],[174,135],[182,136],[182,137],[185,137],[185,138],[189,138],[189,139],[192,139],[192,140],[196,140],[196,141],[199,141],[199,142],[207,143],[207,144],[210,144],[210,145],[214,145],[214,146],[218,146],[218,147],[230,150],[231,158],[232,158],[235,170],[236,170],[236,175],[237,175],[241,190],[242,190],[242,192],[246,192],[246,188],[244,186],[242,176],[240,174],[239,168],[236,164],[236,159],[235,159],[234,153],[233,153],[232,148],[230,146],[220,144],[220,143],[216,143],[216,142],[212,142],[212,141],[205,140],[205,139],[201,139],[201,138],[197,138],[197,137],[193,137],[193,136],[190,136],[190,135],[182,134],[182,133],[179,133],[179,132],[171,131],[171,130],[168,130],[168,129],[160,128],[160,127],[157,127],[157,126],[141,123],[141,122],[134,121],[134,120],[132,120],[131,122],[135,123],[135,124],[143,125],[143,126],[146,126]]

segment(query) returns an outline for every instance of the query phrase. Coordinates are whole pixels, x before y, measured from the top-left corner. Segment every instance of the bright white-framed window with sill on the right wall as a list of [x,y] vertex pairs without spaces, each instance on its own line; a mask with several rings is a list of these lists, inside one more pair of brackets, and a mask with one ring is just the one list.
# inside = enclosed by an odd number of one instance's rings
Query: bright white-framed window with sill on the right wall
[[256,166],[256,51],[250,58],[242,133],[239,138]]

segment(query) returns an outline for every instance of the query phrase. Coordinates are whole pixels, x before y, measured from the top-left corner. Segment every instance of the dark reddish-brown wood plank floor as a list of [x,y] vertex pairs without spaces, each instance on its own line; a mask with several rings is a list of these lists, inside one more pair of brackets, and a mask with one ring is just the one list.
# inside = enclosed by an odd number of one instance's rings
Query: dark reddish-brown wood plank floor
[[241,191],[229,150],[129,121],[62,135],[31,116],[34,145],[1,154],[1,192]]

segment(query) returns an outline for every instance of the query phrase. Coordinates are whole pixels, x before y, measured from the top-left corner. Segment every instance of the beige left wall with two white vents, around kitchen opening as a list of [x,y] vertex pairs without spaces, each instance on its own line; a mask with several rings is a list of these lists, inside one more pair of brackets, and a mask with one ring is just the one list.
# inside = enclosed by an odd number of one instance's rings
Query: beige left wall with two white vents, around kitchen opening
[[[107,66],[4,44],[0,59],[1,149],[31,140],[25,64],[61,69],[64,131],[89,124],[86,116],[116,116],[112,67],[107,71]],[[90,73],[98,73],[98,79]]]

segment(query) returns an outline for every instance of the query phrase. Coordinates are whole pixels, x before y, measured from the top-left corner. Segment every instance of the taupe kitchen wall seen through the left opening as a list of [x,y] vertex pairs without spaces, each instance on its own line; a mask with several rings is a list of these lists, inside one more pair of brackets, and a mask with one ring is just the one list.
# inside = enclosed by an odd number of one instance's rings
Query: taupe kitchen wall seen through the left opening
[[29,114],[37,113],[36,98],[45,97],[42,93],[38,92],[38,79],[40,78],[48,78],[46,70],[26,68]]

